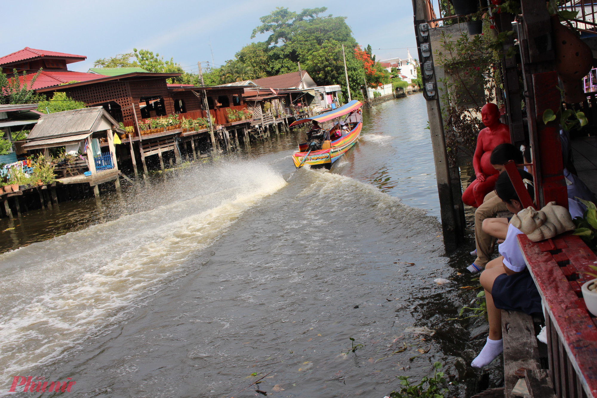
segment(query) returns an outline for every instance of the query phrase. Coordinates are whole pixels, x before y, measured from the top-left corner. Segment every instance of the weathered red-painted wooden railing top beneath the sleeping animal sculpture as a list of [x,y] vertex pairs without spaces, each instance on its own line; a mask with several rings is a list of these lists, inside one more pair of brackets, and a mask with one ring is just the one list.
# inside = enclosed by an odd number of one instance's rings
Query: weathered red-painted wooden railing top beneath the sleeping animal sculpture
[[[568,281],[564,275],[572,267],[578,271],[589,271],[588,266],[597,261],[597,256],[574,235],[561,235],[554,238],[552,243],[537,244],[527,235],[520,234],[518,242],[546,311],[552,318],[553,327],[564,344],[587,396],[597,397],[597,327],[586,310],[584,300],[578,298],[575,292],[582,280]],[[554,256],[549,251],[543,251],[546,244],[561,247],[564,255],[570,259],[571,267],[559,267]],[[562,256],[556,255],[556,258],[562,259]]]

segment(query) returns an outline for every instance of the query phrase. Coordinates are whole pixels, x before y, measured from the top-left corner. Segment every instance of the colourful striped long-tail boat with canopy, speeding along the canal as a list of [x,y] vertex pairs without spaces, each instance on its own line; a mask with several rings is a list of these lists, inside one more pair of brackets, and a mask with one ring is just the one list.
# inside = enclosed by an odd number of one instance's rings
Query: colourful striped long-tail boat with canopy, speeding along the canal
[[[299,143],[298,152],[293,155],[294,166],[298,168],[303,164],[309,164],[310,166],[323,166],[330,169],[332,164],[360,139],[363,127],[361,107],[362,103],[360,101],[352,100],[338,109],[294,121],[290,127],[313,121],[322,124],[334,119],[338,119],[338,124],[349,125],[349,132],[347,134],[342,133],[342,136],[337,139],[331,140],[330,132],[323,130],[322,134],[319,134],[320,139],[311,139],[309,142]],[[343,118],[344,115],[347,116]]]

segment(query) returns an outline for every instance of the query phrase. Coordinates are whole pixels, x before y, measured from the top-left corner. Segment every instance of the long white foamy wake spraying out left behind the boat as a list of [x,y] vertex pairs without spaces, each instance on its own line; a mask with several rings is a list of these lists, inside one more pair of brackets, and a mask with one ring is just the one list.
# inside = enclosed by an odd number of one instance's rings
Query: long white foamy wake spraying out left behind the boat
[[1,372],[47,363],[110,326],[286,185],[279,173],[251,163],[222,167],[214,180],[231,186],[1,255]]

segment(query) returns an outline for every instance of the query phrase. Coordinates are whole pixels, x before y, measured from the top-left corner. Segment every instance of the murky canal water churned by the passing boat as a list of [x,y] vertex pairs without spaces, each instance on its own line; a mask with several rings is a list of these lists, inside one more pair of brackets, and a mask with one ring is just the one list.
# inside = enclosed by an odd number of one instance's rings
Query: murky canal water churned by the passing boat
[[287,134],[2,219],[0,395],[33,376],[73,397],[382,398],[436,361],[447,396],[499,385],[500,360],[470,368],[485,320],[453,320],[478,281],[470,249],[444,253],[426,125],[414,94],[365,111],[331,172],[295,171]]

